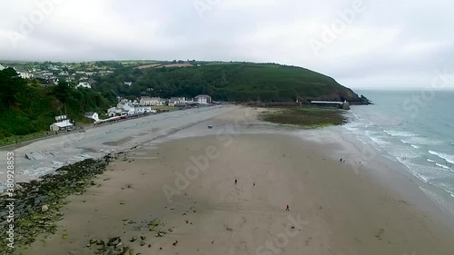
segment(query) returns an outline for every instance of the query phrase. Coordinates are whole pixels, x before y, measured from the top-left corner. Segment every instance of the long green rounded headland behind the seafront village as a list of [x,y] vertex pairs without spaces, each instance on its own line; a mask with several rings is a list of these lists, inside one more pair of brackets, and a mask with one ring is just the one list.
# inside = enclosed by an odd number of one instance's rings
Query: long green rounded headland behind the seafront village
[[[98,77],[98,89],[123,96],[186,96],[200,93],[224,101],[349,100],[360,97],[329,76],[279,64],[215,63],[184,68],[119,68]],[[132,81],[133,86],[123,84]]]

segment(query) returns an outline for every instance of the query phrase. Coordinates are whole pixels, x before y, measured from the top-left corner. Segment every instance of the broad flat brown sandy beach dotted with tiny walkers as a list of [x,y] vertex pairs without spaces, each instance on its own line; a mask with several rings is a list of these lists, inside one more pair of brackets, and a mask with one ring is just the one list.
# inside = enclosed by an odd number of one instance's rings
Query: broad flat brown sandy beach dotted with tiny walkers
[[234,107],[119,154],[24,254],[95,254],[90,240],[113,237],[126,254],[454,254],[451,222],[340,162],[322,130],[286,132],[258,111]]

